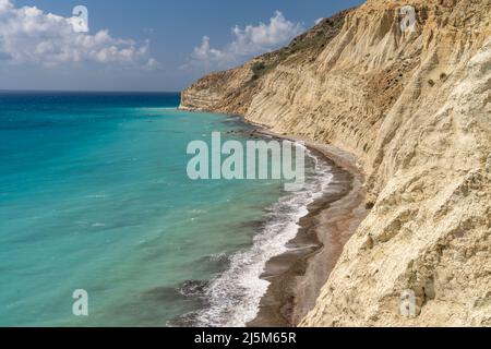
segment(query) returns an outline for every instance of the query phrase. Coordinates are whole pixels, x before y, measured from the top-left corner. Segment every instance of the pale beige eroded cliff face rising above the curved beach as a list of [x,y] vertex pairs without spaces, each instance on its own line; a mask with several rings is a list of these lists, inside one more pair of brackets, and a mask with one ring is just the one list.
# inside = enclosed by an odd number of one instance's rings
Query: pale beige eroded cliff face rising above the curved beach
[[491,325],[490,19],[491,0],[371,0],[183,92],[360,159],[373,208],[301,325]]

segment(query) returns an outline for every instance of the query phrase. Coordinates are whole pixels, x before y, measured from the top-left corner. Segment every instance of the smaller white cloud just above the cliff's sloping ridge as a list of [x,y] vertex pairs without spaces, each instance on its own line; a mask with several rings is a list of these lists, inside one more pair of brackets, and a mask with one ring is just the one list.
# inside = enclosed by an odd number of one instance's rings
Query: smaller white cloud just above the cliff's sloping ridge
[[303,31],[301,24],[286,20],[282,12],[276,11],[268,24],[248,25],[243,29],[236,25],[231,29],[233,40],[221,49],[213,48],[209,37],[204,36],[201,46],[194,48],[188,64],[183,68],[230,68],[244,58],[286,44]]

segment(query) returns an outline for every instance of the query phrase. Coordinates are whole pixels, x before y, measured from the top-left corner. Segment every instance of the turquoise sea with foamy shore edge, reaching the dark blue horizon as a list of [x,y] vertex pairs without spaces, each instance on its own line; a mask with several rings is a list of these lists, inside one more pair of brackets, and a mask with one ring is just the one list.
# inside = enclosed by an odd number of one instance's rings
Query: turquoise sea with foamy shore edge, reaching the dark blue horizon
[[[312,193],[191,181],[189,142],[213,131],[243,142],[250,127],[178,104],[177,94],[0,94],[0,325],[253,316],[263,260],[282,252],[275,239],[291,236]],[[75,289],[88,292],[88,316],[72,313]],[[247,311],[233,314],[239,305]]]

